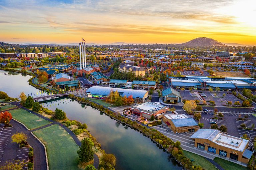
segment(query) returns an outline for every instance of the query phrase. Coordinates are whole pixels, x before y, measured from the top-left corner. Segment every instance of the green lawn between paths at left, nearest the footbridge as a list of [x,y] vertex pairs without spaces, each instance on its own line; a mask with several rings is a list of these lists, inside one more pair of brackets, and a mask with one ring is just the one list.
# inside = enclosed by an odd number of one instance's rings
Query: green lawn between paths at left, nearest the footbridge
[[12,117],[15,120],[18,120],[19,122],[23,123],[30,130],[36,129],[38,127],[42,127],[44,125],[51,123],[23,109],[10,110],[9,112],[12,114]]

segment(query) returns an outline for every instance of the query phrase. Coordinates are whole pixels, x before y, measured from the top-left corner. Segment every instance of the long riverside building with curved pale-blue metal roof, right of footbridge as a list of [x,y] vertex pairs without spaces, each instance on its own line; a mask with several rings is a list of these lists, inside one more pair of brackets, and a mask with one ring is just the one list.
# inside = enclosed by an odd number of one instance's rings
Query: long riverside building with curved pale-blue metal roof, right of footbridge
[[145,90],[132,90],[132,89],[123,89],[123,88],[111,88],[111,87],[101,87],[101,86],[92,86],[86,90],[87,97],[91,98],[100,98],[103,99],[107,97],[110,92],[118,91],[118,93],[124,97],[129,97],[132,95],[132,98],[136,103],[143,103],[147,100],[148,91]]

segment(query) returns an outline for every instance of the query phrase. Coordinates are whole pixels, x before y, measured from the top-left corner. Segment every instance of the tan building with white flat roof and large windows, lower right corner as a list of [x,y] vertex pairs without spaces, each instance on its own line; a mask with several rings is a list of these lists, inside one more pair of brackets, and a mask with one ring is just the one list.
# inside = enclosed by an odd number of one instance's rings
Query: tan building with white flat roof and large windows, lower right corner
[[236,163],[247,164],[253,154],[247,149],[248,140],[223,134],[219,130],[199,129],[190,138],[195,141],[196,148]]

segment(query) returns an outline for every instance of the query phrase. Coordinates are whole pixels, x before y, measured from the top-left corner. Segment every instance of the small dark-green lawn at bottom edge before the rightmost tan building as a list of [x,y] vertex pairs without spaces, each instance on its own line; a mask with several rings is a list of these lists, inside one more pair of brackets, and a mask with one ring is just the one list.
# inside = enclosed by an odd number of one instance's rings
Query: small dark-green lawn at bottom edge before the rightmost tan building
[[225,170],[249,170],[247,167],[238,165],[236,163],[233,163],[218,157],[215,157],[214,161],[218,163]]

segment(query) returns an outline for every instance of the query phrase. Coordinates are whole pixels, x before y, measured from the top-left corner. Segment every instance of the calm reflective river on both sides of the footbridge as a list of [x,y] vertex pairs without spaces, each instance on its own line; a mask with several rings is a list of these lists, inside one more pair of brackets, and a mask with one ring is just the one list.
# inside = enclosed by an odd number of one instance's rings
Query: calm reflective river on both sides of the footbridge
[[[0,91],[11,97],[17,97],[20,91],[26,94],[39,91],[28,84],[29,75],[8,74],[7,79],[3,73],[5,72],[0,71],[0,80],[5,79],[0,81]],[[90,106],[79,104],[69,98],[49,101],[42,105],[51,110],[62,109],[69,119],[86,123],[90,133],[101,143],[102,149],[116,156],[117,170],[182,169],[169,154],[159,149],[149,138]]]

